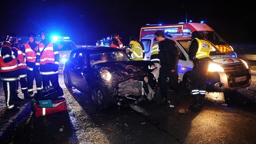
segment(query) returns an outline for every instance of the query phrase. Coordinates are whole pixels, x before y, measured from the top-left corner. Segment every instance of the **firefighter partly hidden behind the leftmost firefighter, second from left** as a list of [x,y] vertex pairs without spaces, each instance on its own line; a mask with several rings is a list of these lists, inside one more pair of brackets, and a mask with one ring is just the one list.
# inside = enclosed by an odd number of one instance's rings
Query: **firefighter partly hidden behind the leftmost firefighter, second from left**
[[[12,44],[12,51],[15,53],[18,53],[17,56],[17,62],[18,62],[18,72],[20,74],[19,78],[20,81],[17,82],[17,90],[18,90],[18,85],[20,82],[21,85],[21,91],[24,94],[24,98],[31,98],[30,95],[28,95],[28,89],[27,89],[27,65],[24,60],[24,55],[23,51],[20,49],[20,46],[18,46],[18,40]],[[18,97],[17,97],[18,98]]]

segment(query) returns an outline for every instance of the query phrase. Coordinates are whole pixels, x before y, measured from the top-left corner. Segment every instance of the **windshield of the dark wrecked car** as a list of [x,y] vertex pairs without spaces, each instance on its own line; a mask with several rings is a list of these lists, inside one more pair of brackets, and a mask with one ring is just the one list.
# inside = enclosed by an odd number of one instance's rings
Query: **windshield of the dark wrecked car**
[[123,52],[108,52],[108,53],[94,53],[89,55],[91,65],[103,62],[116,62],[116,61],[127,61],[129,60]]

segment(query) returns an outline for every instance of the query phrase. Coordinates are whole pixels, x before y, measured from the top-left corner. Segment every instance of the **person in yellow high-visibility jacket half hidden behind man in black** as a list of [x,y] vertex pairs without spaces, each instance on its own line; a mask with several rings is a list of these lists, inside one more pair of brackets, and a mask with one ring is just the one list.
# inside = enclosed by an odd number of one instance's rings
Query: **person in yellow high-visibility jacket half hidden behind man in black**
[[156,78],[156,81],[158,81],[159,78],[159,70],[160,70],[160,59],[159,59],[159,45],[158,41],[156,41],[155,44],[153,44],[153,47],[151,49],[151,62],[153,62],[157,69],[155,69],[152,73]]

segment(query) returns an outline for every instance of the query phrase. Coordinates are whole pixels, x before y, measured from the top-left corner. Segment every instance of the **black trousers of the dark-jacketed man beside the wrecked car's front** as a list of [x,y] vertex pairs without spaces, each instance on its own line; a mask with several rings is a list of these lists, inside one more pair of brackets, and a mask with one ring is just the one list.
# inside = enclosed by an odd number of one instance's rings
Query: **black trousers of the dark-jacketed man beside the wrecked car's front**
[[169,78],[169,85],[176,92],[177,95],[180,94],[180,89],[178,88],[178,73],[171,72],[166,66],[161,66],[160,68],[160,91],[161,97],[167,98],[167,78]]

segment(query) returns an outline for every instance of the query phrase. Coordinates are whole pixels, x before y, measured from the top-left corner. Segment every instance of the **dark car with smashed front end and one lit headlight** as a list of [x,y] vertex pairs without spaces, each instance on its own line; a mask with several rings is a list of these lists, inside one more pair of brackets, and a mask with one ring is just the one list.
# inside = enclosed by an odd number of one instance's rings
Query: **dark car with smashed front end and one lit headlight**
[[132,61],[120,49],[84,47],[74,49],[63,75],[66,87],[91,96],[99,107],[137,104],[155,96],[156,66],[150,61]]

